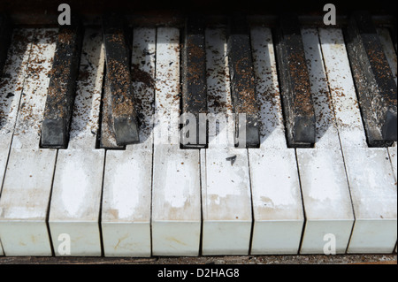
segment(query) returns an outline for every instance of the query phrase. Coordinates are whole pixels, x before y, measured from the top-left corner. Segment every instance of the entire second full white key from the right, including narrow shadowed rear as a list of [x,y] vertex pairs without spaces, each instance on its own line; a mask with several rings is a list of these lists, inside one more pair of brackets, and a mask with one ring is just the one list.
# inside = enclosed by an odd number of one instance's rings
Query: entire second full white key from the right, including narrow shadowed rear
[[[327,85],[318,30],[303,29],[302,42],[307,59],[316,120],[313,149],[297,149],[306,224],[301,254],[323,254],[325,244],[335,242],[326,252],[344,254],[354,224],[348,181],[334,122],[333,104]],[[332,241],[333,240],[333,241]]]

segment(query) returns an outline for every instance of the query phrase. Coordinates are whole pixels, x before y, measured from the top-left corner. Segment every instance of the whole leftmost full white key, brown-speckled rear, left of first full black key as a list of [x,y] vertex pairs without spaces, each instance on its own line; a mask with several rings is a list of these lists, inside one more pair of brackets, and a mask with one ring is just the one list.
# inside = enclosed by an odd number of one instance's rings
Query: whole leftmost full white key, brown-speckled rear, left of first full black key
[[57,150],[39,143],[57,29],[35,29],[33,37],[0,198],[5,255],[51,255],[46,217]]

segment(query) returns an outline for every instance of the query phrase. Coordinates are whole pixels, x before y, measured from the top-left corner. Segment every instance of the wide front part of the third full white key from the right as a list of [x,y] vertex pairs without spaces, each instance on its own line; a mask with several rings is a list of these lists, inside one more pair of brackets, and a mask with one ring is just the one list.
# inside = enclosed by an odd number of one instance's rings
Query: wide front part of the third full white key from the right
[[249,149],[254,211],[252,255],[297,254],[304,214],[295,149]]

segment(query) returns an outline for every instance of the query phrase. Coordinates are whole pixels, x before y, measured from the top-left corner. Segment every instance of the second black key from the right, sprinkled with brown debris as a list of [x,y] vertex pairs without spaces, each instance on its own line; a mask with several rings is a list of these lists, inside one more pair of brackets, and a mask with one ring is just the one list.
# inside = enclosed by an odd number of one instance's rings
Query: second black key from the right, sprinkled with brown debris
[[297,16],[282,15],[275,35],[287,146],[308,148],[315,142],[315,112]]

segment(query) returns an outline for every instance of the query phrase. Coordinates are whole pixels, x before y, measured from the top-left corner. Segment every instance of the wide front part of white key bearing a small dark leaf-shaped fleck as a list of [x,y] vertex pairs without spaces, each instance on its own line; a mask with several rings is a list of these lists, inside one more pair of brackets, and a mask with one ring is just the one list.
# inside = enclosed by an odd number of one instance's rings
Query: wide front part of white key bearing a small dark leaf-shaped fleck
[[[233,164],[227,160],[231,156]],[[247,149],[206,149],[205,166],[202,254],[248,255],[252,219]]]

